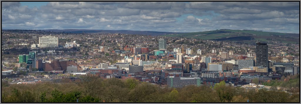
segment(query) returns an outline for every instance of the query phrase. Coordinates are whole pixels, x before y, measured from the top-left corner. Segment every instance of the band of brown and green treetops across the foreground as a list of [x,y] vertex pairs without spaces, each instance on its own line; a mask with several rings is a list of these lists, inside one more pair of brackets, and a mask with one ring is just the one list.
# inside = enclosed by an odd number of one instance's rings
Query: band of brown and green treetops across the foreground
[[224,81],[214,88],[189,85],[169,88],[135,79],[83,76],[80,81],[7,84],[2,82],[2,102],[299,102],[299,88],[292,94],[280,90],[246,90]]

